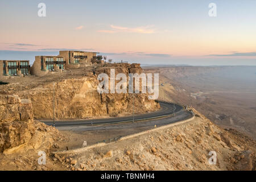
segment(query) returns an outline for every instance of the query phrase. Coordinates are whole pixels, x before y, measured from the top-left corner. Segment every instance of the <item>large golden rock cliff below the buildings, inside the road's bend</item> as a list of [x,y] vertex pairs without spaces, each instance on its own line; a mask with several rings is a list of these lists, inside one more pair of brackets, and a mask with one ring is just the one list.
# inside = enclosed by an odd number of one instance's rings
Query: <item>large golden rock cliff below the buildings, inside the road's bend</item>
[[[106,73],[110,77],[110,69],[118,73],[143,73],[139,64],[113,64],[111,67],[97,67],[86,72],[81,78],[68,78],[55,83],[55,117],[56,118],[90,118],[115,116],[121,113],[146,113],[160,109],[159,103],[148,100],[147,94],[99,94],[97,76]],[[116,81],[118,82],[118,81]],[[128,84],[127,84],[128,86]],[[31,100],[35,118],[53,118],[53,83],[19,92],[19,96]]]

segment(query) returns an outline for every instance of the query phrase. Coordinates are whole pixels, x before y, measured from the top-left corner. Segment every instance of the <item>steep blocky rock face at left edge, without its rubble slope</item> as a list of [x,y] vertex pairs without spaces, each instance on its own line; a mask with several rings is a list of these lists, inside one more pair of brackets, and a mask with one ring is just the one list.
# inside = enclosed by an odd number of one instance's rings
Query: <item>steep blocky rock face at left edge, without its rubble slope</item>
[[0,96],[0,152],[19,146],[32,136],[32,104],[16,95]]

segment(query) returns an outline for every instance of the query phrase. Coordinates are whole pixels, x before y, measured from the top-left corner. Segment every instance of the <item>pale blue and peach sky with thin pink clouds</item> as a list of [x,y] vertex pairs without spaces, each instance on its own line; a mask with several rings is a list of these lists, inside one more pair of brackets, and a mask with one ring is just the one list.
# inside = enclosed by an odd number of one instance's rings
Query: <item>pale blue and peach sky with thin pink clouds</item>
[[255,0],[1,0],[0,9],[0,60],[75,49],[130,63],[256,65]]

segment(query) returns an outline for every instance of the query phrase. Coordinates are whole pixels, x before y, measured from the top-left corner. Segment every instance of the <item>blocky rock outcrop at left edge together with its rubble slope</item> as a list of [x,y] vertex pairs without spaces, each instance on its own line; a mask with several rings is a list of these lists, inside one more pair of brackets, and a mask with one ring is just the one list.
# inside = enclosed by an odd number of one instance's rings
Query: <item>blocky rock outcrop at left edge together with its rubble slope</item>
[[11,154],[14,151],[36,150],[43,148],[48,152],[53,136],[58,131],[50,126],[34,121],[34,114],[30,100],[19,96],[0,95],[0,152]]

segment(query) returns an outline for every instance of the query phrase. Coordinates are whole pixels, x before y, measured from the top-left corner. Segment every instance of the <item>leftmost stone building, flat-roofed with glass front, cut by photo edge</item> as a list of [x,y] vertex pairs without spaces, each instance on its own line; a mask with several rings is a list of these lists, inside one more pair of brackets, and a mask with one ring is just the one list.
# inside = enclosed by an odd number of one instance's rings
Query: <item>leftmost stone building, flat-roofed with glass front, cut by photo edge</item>
[[0,60],[0,76],[30,75],[28,60]]

